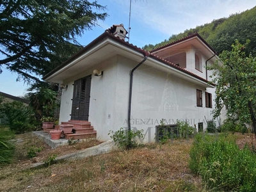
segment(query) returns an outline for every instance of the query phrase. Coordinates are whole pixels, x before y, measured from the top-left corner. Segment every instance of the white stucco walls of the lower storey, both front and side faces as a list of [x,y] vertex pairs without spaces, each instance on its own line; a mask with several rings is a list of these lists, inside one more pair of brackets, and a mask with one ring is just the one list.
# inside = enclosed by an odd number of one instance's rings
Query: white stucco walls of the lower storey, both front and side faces
[[[141,60],[143,60],[141,58]],[[139,61],[140,62],[140,61]],[[103,76],[92,75],[89,121],[97,131],[99,140],[109,140],[110,130],[127,128],[130,72],[138,65],[123,56],[115,56],[95,67],[81,72],[77,76],[65,79],[67,90],[61,97],[60,122],[70,120],[72,107],[73,83],[76,79],[92,74],[93,70],[103,70]],[[203,107],[196,107],[196,89],[203,91]],[[132,129],[143,129],[145,142],[154,141],[156,126],[162,118],[168,124],[176,120],[189,120],[190,125],[212,119],[211,108],[205,108],[205,91],[212,93],[214,89],[200,87],[183,79],[170,75],[170,70],[159,70],[148,65],[141,65],[134,72],[132,88]],[[166,109],[166,104],[172,108]],[[214,104],[214,103],[213,103]]]

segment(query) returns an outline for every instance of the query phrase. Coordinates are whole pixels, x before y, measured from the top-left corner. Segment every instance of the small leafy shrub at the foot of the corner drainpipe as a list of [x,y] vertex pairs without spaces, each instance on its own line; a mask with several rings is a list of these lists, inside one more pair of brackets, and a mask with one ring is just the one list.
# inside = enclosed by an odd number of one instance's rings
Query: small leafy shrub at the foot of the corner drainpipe
[[113,141],[115,142],[115,145],[117,145],[118,148],[121,148],[124,150],[138,147],[139,144],[137,139],[142,139],[144,137],[143,130],[128,131],[126,129],[123,129],[122,127],[116,132],[109,131],[108,134],[112,134],[110,138],[113,139]]

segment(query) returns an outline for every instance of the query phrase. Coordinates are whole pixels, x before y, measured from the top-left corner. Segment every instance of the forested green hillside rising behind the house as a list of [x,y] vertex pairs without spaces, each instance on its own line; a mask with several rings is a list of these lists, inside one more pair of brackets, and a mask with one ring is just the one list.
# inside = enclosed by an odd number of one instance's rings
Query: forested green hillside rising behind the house
[[230,50],[230,45],[236,39],[243,44],[246,39],[250,39],[251,43],[246,53],[252,52],[253,56],[256,56],[256,6],[251,10],[230,15],[228,18],[212,20],[209,24],[197,26],[194,29],[186,29],[183,33],[172,35],[168,40],[164,40],[159,44],[145,45],[143,49],[151,51],[193,33],[201,35],[218,54],[223,50]]

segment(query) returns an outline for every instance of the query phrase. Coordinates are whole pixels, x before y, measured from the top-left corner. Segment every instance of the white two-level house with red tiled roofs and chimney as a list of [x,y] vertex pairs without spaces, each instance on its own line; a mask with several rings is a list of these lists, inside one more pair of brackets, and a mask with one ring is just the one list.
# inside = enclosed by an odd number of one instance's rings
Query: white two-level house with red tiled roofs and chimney
[[193,34],[147,52],[125,35],[122,24],[113,25],[44,77],[63,84],[60,122],[88,121],[100,140],[129,127],[129,117],[131,129],[144,130],[145,142],[155,140],[162,118],[206,129],[214,108],[212,72],[205,68],[217,59],[212,47]]

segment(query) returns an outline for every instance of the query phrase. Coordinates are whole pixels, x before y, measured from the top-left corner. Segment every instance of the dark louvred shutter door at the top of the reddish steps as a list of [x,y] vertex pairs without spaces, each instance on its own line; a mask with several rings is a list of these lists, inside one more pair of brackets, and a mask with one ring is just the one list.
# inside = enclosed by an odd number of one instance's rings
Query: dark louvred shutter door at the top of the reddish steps
[[71,120],[86,120],[89,117],[90,92],[92,76],[74,81]]

